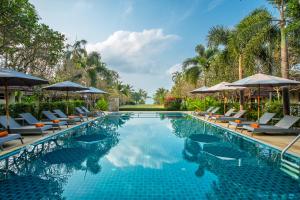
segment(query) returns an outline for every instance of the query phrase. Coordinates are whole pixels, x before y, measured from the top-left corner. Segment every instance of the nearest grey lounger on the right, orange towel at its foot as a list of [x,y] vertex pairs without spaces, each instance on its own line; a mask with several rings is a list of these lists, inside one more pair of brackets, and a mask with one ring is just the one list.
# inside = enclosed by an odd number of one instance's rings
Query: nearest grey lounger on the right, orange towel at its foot
[[285,115],[277,124],[273,125],[244,125],[243,129],[251,131],[251,135],[254,133],[273,133],[273,134],[288,134],[288,133],[299,133],[299,129],[291,128],[300,117]]

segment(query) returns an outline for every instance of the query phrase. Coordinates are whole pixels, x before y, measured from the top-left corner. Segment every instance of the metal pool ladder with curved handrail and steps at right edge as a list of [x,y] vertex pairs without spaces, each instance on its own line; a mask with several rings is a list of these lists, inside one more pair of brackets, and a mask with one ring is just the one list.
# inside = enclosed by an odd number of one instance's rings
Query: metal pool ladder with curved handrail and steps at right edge
[[300,134],[293,139],[281,152],[280,160],[281,160],[281,167],[280,169],[285,172],[286,174],[290,175],[295,179],[300,178],[300,165],[289,160],[284,159],[284,154],[291,148],[298,140],[300,139]]

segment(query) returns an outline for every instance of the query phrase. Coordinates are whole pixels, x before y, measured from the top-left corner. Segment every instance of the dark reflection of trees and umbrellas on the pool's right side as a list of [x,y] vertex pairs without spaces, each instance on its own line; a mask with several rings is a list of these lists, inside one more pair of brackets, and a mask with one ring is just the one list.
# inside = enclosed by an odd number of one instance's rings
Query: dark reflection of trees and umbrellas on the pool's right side
[[[173,123],[177,122],[173,121]],[[182,125],[184,122],[180,120],[179,123]],[[230,140],[217,141],[216,136],[210,135],[212,132],[209,131],[206,132],[206,137],[204,132],[200,133],[198,136],[191,134],[185,139],[183,158],[198,165],[195,176],[203,177],[205,173],[210,172],[218,177],[218,181],[212,183],[212,191],[207,193],[207,198],[300,198],[298,181],[291,179],[274,166],[274,163],[270,166],[268,162],[255,159],[255,155],[240,150],[246,146],[249,149],[251,145],[245,145],[244,142],[231,143]],[[187,132],[177,134],[187,135]],[[233,141],[237,140],[233,139]],[[258,150],[257,154],[266,156],[265,150]],[[272,157],[272,154],[268,155]]]

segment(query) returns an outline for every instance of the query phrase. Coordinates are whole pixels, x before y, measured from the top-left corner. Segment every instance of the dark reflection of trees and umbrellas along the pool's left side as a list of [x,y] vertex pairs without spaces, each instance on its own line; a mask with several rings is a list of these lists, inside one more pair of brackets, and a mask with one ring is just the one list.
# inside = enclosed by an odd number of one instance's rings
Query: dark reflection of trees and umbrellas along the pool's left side
[[100,119],[2,160],[0,199],[63,199],[75,171],[101,172],[100,159],[118,143],[117,128],[128,119]]

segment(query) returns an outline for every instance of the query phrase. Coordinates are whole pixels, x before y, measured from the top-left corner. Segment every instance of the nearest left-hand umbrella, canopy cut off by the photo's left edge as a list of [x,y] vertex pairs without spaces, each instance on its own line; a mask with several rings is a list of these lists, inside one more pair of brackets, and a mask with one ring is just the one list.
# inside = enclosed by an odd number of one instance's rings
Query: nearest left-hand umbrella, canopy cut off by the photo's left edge
[[8,87],[9,86],[32,87],[34,85],[41,85],[47,83],[48,83],[47,80],[35,76],[31,76],[29,74],[17,72],[11,69],[0,68],[0,85],[4,86],[7,129],[9,129]]

